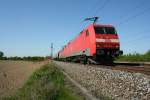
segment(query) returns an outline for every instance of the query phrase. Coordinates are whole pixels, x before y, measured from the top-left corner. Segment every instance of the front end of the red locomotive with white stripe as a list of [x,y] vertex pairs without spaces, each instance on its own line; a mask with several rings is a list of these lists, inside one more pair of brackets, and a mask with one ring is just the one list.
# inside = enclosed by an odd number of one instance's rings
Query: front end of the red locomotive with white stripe
[[[96,38],[96,58],[97,60],[109,58],[113,61],[118,57],[120,51],[120,42],[116,29],[111,25],[94,25]],[[105,59],[106,60],[106,59]]]

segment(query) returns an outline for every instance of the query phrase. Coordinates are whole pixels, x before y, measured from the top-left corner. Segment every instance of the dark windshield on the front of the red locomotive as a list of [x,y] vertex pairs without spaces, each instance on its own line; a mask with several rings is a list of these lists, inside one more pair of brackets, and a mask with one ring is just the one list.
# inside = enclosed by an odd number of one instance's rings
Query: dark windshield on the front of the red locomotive
[[113,27],[94,27],[96,34],[116,34],[116,30]]

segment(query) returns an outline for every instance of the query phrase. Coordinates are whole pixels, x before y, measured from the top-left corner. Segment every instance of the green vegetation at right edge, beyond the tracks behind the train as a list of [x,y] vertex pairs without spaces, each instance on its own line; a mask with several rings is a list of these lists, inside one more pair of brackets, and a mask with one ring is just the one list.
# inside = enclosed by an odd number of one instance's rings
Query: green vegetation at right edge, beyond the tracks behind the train
[[117,61],[130,61],[130,62],[149,62],[150,61],[150,50],[145,54],[126,54],[120,56]]

